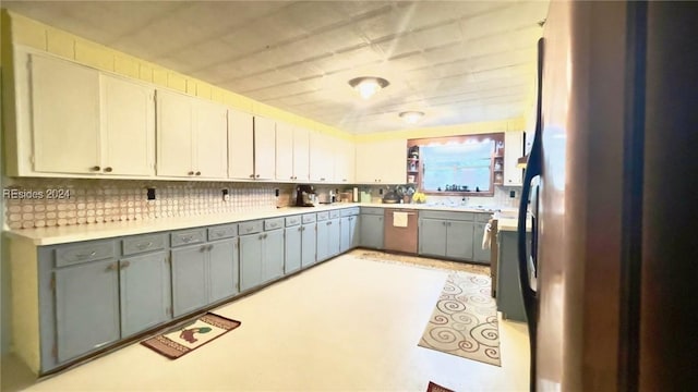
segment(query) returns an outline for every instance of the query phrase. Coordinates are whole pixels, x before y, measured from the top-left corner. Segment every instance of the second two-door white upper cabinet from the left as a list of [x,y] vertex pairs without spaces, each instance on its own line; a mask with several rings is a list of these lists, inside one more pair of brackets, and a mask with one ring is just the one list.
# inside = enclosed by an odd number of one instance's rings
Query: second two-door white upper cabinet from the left
[[226,179],[226,108],[157,91],[157,175]]

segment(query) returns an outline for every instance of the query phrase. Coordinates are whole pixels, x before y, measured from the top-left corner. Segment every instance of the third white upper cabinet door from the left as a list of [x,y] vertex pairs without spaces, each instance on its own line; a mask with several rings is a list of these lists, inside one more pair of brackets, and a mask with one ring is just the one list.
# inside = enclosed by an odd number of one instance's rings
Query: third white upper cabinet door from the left
[[192,99],[157,90],[157,175],[191,177]]

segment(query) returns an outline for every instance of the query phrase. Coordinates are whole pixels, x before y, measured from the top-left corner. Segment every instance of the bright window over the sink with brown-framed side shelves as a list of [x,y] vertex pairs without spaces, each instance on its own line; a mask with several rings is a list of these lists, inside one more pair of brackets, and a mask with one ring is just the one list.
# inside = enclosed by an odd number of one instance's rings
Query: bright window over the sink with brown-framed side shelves
[[492,196],[503,157],[503,133],[410,139],[407,181],[426,194]]

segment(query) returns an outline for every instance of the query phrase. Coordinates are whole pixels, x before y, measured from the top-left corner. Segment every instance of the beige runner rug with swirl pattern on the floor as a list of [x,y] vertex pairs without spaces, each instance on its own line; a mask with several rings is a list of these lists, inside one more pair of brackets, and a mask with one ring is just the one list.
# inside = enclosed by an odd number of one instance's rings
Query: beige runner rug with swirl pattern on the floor
[[501,366],[497,306],[490,284],[485,275],[450,273],[419,345]]

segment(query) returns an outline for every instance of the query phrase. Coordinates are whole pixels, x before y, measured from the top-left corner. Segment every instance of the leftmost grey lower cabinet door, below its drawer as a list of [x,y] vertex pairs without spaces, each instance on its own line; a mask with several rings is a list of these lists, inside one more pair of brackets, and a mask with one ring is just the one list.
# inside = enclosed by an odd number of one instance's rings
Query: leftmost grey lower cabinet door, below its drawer
[[117,269],[117,260],[108,259],[55,272],[58,362],[75,358],[119,340]]

